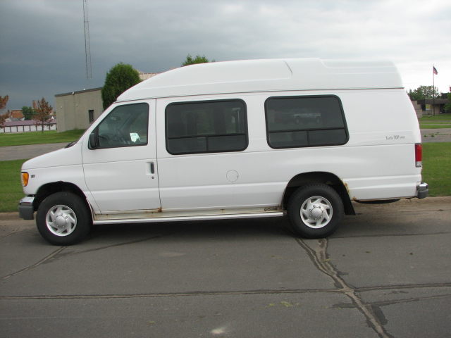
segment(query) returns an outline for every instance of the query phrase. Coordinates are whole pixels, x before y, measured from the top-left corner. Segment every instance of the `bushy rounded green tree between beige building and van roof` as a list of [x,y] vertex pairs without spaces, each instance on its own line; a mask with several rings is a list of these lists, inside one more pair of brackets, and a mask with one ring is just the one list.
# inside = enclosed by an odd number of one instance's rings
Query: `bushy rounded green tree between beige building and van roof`
[[101,89],[101,99],[104,102],[104,109],[111,106],[119,95],[140,82],[140,73],[131,65],[124,65],[121,62],[111,67],[109,72],[106,73],[105,84]]

